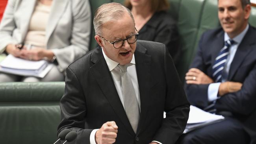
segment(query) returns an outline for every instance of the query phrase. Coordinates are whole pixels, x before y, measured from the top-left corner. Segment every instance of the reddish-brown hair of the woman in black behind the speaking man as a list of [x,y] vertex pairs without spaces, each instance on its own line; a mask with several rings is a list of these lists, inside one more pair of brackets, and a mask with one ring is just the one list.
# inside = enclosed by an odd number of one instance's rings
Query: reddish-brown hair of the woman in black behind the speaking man
[[[150,2],[152,12],[167,11],[170,8],[170,4],[167,0],[148,0],[148,2]],[[128,9],[132,9],[130,0],[125,0],[124,6]]]

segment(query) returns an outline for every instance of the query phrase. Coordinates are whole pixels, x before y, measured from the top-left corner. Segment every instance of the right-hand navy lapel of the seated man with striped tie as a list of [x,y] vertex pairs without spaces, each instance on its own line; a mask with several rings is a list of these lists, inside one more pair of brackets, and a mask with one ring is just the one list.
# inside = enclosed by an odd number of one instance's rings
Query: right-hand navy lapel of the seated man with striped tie
[[238,46],[236,54],[234,56],[234,59],[233,59],[231,65],[230,65],[228,79],[233,78],[237,69],[243,63],[243,60],[245,59],[246,55],[249,54],[249,52],[252,50],[252,48],[255,48],[255,38],[256,38],[256,36],[255,36],[254,32],[255,31],[252,30],[251,27],[249,27],[247,33],[245,34],[245,37],[241,41],[241,44]]

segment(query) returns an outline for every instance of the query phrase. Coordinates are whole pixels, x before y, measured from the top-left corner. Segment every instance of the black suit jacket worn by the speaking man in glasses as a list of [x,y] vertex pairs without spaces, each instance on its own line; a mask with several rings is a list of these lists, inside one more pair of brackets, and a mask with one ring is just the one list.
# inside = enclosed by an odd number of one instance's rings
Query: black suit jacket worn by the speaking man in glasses
[[137,134],[99,47],[67,68],[58,132],[73,129],[78,132],[76,144],[89,144],[91,131],[113,120],[118,126],[116,144],[174,144],[186,126],[189,103],[171,56],[164,44],[137,41],[135,63],[141,99]]

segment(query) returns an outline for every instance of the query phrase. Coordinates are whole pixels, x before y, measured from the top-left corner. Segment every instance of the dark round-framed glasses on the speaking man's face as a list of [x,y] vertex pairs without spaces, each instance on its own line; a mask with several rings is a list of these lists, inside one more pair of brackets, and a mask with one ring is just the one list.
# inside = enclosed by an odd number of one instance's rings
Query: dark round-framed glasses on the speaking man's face
[[134,42],[137,41],[139,33],[138,33],[136,28],[135,28],[135,30],[137,32],[136,34],[130,35],[126,39],[119,39],[119,40],[113,41],[113,42],[106,40],[104,37],[102,37],[100,35],[98,35],[98,36],[100,36],[102,39],[104,39],[105,41],[109,42],[110,44],[113,44],[114,48],[121,48],[124,45],[124,41],[127,41],[128,44],[133,44]]

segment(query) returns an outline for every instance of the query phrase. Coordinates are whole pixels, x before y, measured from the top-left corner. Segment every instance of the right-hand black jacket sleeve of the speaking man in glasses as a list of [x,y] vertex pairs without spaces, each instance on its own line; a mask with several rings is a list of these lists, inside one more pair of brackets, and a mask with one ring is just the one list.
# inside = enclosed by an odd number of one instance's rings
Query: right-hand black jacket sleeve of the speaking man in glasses
[[171,55],[165,48],[164,54],[165,77],[166,77],[166,97],[165,112],[160,129],[158,129],[153,140],[162,144],[175,144],[182,135],[189,116],[189,102],[180,82],[178,73],[174,66]]

